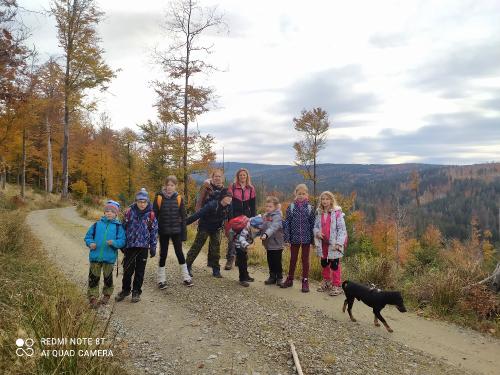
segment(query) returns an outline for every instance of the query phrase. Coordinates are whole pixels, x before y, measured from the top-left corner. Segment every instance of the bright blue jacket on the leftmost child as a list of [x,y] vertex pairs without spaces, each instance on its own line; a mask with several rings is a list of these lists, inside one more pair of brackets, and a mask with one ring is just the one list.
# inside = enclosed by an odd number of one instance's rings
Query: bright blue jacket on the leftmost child
[[[108,240],[113,241],[111,246],[106,243]],[[120,220],[108,220],[106,216],[103,216],[101,220],[90,226],[85,235],[85,243],[88,247],[90,247],[92,243],[97,245],[94,250],[90,250],[90,262],[113,264],[116,262],[118,249],[125,246],[125,230]]]

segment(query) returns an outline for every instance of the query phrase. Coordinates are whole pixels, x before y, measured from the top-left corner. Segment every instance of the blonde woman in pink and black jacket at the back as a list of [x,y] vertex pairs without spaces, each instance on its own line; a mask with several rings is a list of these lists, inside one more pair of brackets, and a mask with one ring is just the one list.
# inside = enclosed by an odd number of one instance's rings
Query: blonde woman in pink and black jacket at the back
[[[246,217],[254,217],[256,215],[255,207],[255,188],[252,185],[250,172],[246,168],[240,168],[236,171],[234,182],[228,187],[233,194],[233,201],[231,202],[231,219],[244,215]],[[236,258],[236,250],[234,244],[229,242],[226,254],[225,270],[233,268],[234,260]]]

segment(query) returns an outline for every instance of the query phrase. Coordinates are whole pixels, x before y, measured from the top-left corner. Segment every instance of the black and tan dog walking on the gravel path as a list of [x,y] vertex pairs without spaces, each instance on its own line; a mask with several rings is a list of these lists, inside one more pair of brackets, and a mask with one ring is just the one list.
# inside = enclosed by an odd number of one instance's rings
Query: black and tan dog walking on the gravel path
[[347,307],[347,312],[353,322],[355,322],[356,319],[352,316],[351,310],[355,298],[358,301],[363,301],[366,305],[373,308],[373,313],[375,314],[375,326],[380,327],[378,322],[380,320],[389,332],[392,332],[392,328],[389,327],[389,324],[387,324],[385,319],[380,314],[380,311],[382,311],[385,305],[395,305],[400,312],[406,312],[406,307],[400,292],[384,292],[380,289],[369,288],[365,285],[356,284],[347,280],[342,283],[342,289],[344,290],[346,297],[342,312],[345,312],[345,308]]

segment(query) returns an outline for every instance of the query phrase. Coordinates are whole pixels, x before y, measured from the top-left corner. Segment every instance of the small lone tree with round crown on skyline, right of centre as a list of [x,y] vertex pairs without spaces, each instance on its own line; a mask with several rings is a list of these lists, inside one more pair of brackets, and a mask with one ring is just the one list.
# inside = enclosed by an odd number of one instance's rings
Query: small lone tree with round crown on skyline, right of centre
[[305,180],[313,184],[313,197],[316,200],[318,177],[316,164],[319,152],[326,146],[326,137],[330,128],[328,113],[321,108],[303,110],[299,118],[293,119],[295,130],[302,134],[302,139],[295,142],[295,165]]

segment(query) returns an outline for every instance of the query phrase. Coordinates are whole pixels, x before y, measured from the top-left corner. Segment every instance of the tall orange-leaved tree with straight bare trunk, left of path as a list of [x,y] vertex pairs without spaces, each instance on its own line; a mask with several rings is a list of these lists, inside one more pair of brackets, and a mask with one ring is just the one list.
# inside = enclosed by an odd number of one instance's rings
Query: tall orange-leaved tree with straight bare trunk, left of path
[[107,89],[114,72],[103,60],[97,24],[104,13],[94,0],[53,0],[59,45],[64,50],[64,141],[62,196],[68,196],[68,148],[71,113],[88,89]]

